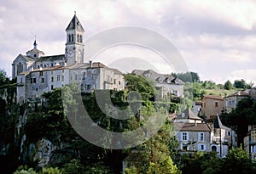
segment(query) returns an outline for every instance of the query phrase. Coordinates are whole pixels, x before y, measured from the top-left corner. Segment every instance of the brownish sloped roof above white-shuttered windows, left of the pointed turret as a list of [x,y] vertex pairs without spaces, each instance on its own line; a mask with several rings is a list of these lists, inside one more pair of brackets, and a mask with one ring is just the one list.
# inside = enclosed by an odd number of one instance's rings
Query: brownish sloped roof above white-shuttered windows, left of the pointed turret
[[211,127],[207,123],[181,123],[175,122],[174,128],[176,131],[188,132],[212,132]]

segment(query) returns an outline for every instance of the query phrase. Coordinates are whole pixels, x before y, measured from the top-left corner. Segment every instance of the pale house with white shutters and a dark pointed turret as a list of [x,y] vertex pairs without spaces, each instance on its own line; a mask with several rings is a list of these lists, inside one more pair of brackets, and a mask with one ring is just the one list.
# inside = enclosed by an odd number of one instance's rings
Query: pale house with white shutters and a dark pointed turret
[[179,154],[196,151],[217,152],[224,157],[231,147],[236,147],[236,132],[224,126],[218,115],[212,122],[203,121],[186,109],[173,121]]

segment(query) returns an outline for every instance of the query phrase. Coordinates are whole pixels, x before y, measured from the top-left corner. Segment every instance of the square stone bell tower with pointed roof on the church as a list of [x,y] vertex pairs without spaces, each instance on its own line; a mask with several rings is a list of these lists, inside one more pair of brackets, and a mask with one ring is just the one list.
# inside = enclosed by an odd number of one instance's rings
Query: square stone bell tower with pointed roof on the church
[[76,14],[73,19],[67,25],[67,42],[65,56],[67,59],[67,65],[73,65],[76,63],[84,62],[84,28],[79,22]]

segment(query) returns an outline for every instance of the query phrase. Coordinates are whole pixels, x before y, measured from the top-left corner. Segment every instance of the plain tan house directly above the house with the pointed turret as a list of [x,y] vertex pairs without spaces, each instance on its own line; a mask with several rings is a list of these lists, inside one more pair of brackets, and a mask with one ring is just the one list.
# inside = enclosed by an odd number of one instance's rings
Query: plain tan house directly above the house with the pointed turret
[[208,120],[215,119],[224,109],[224,98],[220,95],[203,95],[201,98],[201,115]]

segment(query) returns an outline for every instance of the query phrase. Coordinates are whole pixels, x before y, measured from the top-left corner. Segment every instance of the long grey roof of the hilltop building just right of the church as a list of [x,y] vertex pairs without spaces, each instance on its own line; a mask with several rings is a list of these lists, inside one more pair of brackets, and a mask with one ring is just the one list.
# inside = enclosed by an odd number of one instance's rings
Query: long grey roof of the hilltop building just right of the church
[[[184,84],[184,82],[177,77],[174,77],[172,75],[160,74],[155,72],[154,70],[132,70],[131,74],[137,76],[145,76],[148,79],[152,79],[158,82],[167,82],[167,80],[170,80],[171,83],[174,84]],[[147,74],[150,74],[150,76],[146,76]]]

